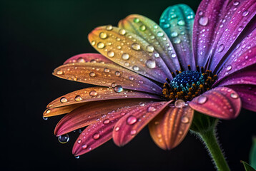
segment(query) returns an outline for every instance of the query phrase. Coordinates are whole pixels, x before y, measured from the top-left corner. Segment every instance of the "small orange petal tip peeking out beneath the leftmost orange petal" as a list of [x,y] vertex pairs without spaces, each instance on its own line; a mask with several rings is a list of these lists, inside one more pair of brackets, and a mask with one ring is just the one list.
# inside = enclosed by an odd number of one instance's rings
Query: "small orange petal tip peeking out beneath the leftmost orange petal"
[[67,105],[67,106],[63,106],[61,108],[48,108],[44,111],[43,116],[44,117],[51,117],[51,116],[55,116],[55,115],[62,115],[65,113],[69,113],[72,110],[79,108],[81,105],[83,104],[74,104],[74,105]]

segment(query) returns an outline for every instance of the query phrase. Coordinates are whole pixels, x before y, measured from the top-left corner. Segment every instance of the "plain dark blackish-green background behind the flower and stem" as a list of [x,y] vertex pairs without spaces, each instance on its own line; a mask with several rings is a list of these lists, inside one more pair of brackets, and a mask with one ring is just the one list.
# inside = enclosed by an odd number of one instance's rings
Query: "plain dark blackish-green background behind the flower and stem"
[[[109,141],[75,159],[72,145],[54,136],[61,116],[42,119],[46,105],[60,95],[89,85],[51,75],[78,53],[95,52],[87,34],[101,25],[117,25],[129,14],[158,23],[168,6],[195,1],[1,1],[1,160],[0,170],[214,170],[210,157],[193,135],[171,151],[159,149],[148,129],[124,147]],[[236,120],[222,120],[218,133],[232,170],[248,161],[255,113],[242,110]]]

